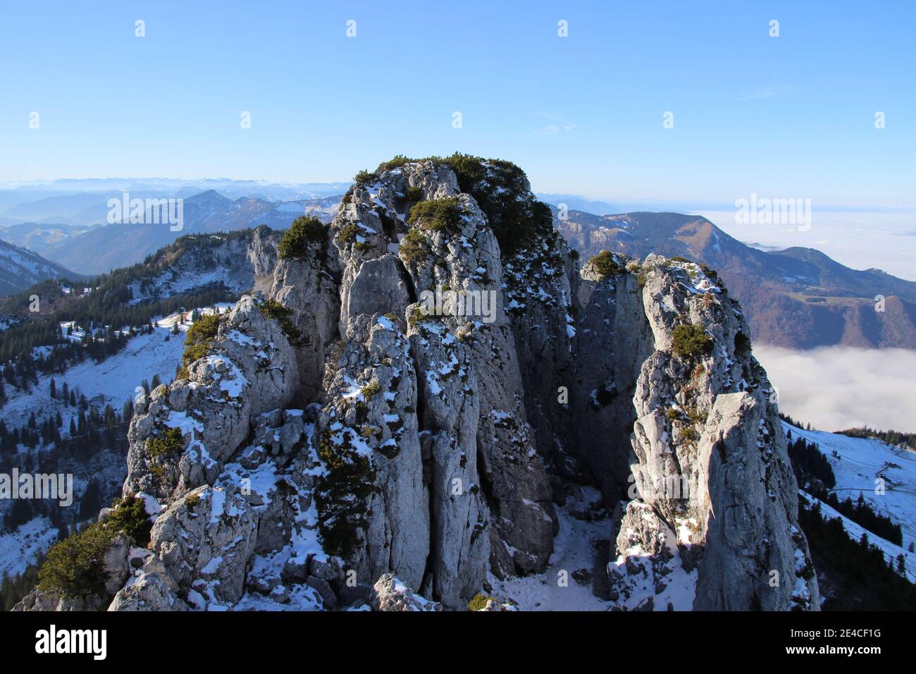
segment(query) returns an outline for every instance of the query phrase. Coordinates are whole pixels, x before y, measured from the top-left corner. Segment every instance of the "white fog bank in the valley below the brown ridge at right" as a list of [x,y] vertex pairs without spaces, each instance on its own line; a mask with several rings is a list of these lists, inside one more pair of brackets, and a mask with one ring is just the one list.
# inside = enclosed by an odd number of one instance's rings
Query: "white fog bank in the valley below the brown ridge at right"
[[867,425],[916,432],[916,351],[755,344],[780,394],[780,410],[826,431]]

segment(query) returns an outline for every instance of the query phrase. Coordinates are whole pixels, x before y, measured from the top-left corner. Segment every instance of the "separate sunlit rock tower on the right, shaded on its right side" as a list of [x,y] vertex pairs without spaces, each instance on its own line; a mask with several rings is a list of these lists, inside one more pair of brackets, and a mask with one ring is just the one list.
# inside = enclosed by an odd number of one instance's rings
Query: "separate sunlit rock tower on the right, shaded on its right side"
[[694,609],[816,608],[772,389],[739,307],[711,273],[652,255],[638,267],[655,351],[633,396],[639,499],[627,504],[614,566],[647,553],[654,563],[674,538],[682,569],[697,572],[682,580]]

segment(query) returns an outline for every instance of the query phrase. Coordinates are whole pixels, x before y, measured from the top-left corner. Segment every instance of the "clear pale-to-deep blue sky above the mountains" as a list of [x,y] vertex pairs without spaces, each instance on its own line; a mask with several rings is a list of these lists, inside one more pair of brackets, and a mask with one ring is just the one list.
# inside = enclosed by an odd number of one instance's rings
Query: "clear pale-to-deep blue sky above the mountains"
[[459,149],[517,162],[540,192],[916,205],[911,0],[68,1],[0,16],[0,181],[338,181]]

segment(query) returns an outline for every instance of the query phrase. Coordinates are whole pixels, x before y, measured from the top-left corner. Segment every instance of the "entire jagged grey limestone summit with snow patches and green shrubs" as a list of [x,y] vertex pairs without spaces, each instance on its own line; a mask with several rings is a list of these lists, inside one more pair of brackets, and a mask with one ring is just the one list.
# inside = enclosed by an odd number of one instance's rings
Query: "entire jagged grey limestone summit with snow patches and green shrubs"
[[256,243],[272,282],[194,323],[136,398],[121,501],[59,544],[93,562],[19,609],[515,610],[583,584],[592,608],[819,607],[714,271],[579,260],[518,167],[466,155],[364,171],[330,226]]

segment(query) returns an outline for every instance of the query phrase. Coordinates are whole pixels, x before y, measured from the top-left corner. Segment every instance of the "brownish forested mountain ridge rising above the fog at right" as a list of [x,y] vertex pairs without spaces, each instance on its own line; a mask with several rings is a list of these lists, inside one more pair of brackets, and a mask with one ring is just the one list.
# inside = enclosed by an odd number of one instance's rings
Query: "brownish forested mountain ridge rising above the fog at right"
[[755,342],[916,348],[916,282],[852,270],[815,249],[752,248],[699,215],[570,211],[559,220],[552,210],[554,226],[584,258],[601,250],[634,258],[654,252],[717,271],[744,307]]

